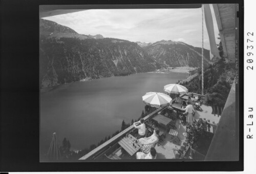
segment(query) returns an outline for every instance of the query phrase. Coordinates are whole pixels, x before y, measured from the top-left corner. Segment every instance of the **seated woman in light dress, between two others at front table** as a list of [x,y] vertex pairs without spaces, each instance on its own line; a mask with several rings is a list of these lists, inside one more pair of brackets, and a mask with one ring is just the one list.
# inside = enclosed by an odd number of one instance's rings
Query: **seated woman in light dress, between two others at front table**
[[140,151],[142,151],[144,154],[148,154],[151,147],[155,147],[156,143],[158,142],[158,137],[159,129],[155,128],[152,136],[139,139],[138,141],[142,144]]

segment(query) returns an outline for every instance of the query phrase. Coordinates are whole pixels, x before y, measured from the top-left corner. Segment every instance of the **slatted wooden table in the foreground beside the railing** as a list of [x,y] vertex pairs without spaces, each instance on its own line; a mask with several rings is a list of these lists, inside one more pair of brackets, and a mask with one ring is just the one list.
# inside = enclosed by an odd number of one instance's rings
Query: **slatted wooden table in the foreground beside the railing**
[[[129,134],[128,137],[125,136],[120,141],[118,141],[118,144],[122,146],[122,148],[127,151],[130,156],[133,156],[142,146],[139,141],[136,143],[135,140],[137,139]],[[133,144],[135,145],[135,147],[133,146]]]

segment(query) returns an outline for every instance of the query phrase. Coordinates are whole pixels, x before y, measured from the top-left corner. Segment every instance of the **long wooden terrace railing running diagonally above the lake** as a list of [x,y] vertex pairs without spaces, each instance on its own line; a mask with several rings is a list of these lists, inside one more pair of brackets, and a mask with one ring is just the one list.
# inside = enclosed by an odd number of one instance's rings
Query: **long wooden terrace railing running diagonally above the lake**
[[[143,118],[144,122],[148,121],[155,114],[157,114],[158,112],[161,112],[165,108],[167,108],[167,106],[160,107],[156,111],[152,112],[151,114],[148,114],[147,116],[145,116]],[[100,151],[102,151],[102,149],[109,148],[110,145],[113,145],[113,143],[115,143],[118,140],[120,140],[120,138],[122,138],[125,134],[130,133],[133,129],[135,129],[134,125],[131,125],[130,127],[127,127],[126,129],[124,129],[122,132],[120,132],[119,134],[117,134],[113,138],[109,139],[108,141],[104,142],[103,144],[99,145],[98,147],[96,147],[95,149],[90,151],[88,154],[86,154],[83,157],[81,157],[79,160],[86,160],[86,159],[94,159],[94,158],[96,158],[97,154],[99,154]]]

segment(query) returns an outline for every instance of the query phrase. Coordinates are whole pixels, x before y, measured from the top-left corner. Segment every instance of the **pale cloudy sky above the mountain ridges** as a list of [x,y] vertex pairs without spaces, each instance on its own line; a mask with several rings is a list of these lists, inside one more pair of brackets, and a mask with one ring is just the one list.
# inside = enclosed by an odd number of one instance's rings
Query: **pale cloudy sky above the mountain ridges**
[[[218,26],[213,14],[215,37]],[[183,41],[202,47],[202,9],[92,9],[45,17],[44,19],[70,27],[79,34],[156,42]],[[216,39],[217,44],[219,40]],[[204,48],[209,49],[209,38],[204,23]]]

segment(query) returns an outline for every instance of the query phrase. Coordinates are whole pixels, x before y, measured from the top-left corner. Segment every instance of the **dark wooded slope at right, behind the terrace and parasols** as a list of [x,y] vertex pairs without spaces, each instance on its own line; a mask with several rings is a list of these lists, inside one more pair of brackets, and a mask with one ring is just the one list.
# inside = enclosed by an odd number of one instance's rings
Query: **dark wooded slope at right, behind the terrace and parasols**
[[[204,92],[206,95],[205,104],[224,107],[231,85],[235,77],[234,64],[225,63],[222,58],[212,66],[204,69]],[[201,94],[202,71],[198,69],[197,75],[191,81],[180,82],[189,92]]]

